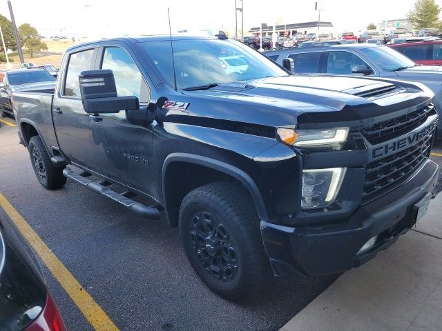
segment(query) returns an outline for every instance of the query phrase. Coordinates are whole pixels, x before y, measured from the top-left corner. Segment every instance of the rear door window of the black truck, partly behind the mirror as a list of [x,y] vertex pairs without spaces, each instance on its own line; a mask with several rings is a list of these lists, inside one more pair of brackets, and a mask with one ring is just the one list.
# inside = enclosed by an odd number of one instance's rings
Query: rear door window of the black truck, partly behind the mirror
[[67,97],[81,97],[78,76],[80,72],[90,70],[93,54],[93,49],[70,54],[63,95]]

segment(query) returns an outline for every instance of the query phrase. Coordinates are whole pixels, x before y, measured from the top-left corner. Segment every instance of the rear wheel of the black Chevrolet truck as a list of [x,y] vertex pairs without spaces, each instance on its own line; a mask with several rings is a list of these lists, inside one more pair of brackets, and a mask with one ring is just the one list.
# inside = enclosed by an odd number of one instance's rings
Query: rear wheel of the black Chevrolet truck
[[48,190],[57,190],[63,187],[66,183],[66,177],[63,176],[64,168],[57,168],[52,164],[39,136],[31,137],[28,151],[35,176],[41,185]]

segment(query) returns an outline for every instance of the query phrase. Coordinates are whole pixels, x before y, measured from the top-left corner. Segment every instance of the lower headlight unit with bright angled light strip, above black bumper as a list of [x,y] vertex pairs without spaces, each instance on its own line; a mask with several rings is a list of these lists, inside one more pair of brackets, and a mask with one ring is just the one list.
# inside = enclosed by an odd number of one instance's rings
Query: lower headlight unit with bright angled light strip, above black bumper
[[302,170],[303,209],[324,208],[336,199],[347,168]]

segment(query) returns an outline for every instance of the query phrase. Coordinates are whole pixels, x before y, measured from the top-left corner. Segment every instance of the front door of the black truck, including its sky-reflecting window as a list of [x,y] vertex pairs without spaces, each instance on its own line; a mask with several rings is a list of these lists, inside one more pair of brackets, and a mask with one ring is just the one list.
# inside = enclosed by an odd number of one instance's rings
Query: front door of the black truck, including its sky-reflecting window
[[[151,90],[134,61],[135,54],[118,46],[105,47],[102,52],[99,68],[113,70],[118,97],[135,95],[140,114],[147,117]],[[100,117],[102,121],[90,122],[100,174],[156,198],[151,123],[134,125],[124,111]]]

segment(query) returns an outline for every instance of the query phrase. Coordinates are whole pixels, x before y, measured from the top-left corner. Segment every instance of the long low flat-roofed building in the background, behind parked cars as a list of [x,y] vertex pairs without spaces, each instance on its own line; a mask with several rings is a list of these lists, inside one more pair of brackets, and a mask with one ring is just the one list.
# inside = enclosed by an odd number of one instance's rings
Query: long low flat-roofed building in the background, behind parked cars
[[[331,22],[305,22],[305,23],[291,23],[291,24],[280,24],[275,26],[275,32],[279,36],[293,36],[297,33],[308,34],[308,33],[332,33],[333,24]],[[253,37],[260,37],[261,27],[251,28],[249,34]],[[271,36],[273,34],[273,26],[267,26],[267,24],[262,23],[262,35]]]

